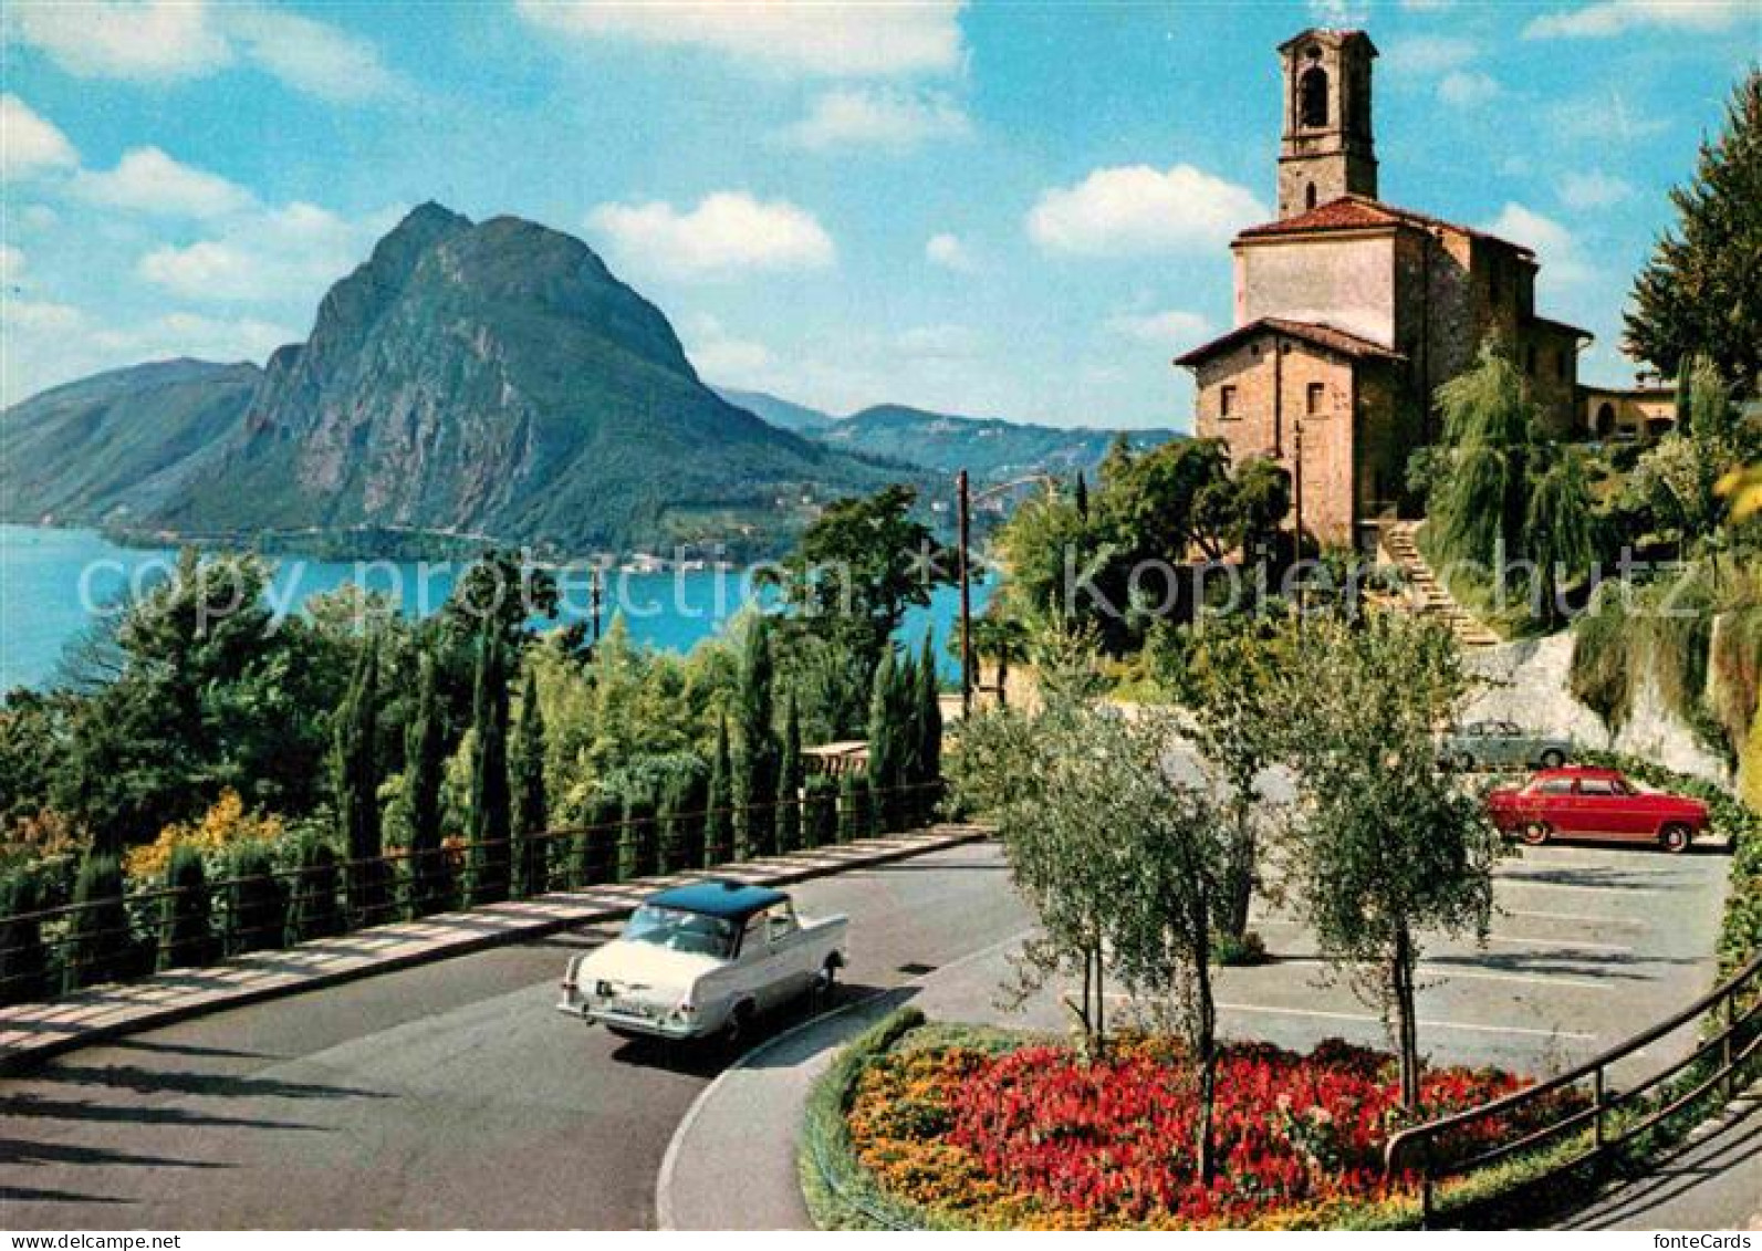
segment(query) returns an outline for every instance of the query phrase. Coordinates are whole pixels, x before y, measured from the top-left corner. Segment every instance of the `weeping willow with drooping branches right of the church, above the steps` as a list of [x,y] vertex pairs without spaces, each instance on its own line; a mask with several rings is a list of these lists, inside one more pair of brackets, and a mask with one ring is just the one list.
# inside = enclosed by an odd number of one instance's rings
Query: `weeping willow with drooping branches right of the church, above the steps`
[[1429,504],[1438,550],[1477,560],[1496,578],[1522,550],[1535,458],[1535,403],[1498,340],[1480,361],[1438,388],[1443,448]]

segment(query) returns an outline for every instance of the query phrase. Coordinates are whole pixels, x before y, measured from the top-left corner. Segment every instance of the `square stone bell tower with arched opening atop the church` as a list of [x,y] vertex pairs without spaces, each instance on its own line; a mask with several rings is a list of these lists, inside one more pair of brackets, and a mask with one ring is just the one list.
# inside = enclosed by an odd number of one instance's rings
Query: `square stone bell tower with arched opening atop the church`
[[1279,220],[1341,196],[1376,199],[1371,37],[1362,30],[1313,28],[1279,44],[1279,58],[1284,62]]

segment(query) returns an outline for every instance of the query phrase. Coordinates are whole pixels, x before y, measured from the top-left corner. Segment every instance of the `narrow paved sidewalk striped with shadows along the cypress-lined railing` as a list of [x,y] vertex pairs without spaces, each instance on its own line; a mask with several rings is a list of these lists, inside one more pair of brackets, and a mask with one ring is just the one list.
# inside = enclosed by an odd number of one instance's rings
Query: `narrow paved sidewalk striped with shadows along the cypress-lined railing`
[[[863,839],[789,856],[726,865],[721,877],[786,885],[825,874],[914,856],[985,837],[981,826],[937,825],[916,833]],[[120,1034],[236,1008],[261,999],[351,981],[388,969],[444,960],[504,943],[596,922],[613,922],[648,893],[685,877],[643,877],[583,892],[440,913],[419,922],[381,925],[344,937],[257,951],[206,969],[176,969],[139,981],[93,987],[55,1003],[0,1008],[0,1073]]]

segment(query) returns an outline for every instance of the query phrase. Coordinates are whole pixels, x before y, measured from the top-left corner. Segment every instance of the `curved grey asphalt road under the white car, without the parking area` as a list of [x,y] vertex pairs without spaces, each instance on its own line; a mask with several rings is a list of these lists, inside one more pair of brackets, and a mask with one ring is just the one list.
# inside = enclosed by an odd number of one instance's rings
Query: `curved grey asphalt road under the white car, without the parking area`
[[[846,996],[1027,925],[988,844],[795,890],[851,916]],[[4,1082],[0,1225],[648,1228],[668,1140],[729,1057],[553,1011],[569,950],[599,937],[238,1008]]]

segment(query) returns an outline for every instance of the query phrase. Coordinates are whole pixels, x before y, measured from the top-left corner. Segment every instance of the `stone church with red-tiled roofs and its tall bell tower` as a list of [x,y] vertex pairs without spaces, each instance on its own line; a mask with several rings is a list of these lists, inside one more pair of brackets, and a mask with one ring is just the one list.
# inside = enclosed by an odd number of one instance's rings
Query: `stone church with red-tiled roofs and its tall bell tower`
[[1230,245],[1235,329],[1175,363],[1198,384],[1200,437],[1290,472],[1293,525],[1373,548],[1408,456],[1438,433],[1433,393],[1489,333],[1561,435],[1591,335],[1536,314],[1531,248],[1378,199],[1369,35],[1306,30],[1279,58],[1279,215]]

